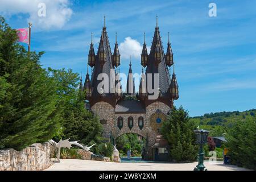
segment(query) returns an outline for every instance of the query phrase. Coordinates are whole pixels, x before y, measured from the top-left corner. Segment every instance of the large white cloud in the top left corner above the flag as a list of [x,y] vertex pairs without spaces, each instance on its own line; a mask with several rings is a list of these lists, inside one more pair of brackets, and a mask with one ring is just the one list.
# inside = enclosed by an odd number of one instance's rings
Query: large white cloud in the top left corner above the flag
[[[46,5],[46,16],[39,16],[39,4]],[[61,28],[73,13],[69,0],[1,0],[0,13],[6,16],[28,14],[27,22],[41,30]]]

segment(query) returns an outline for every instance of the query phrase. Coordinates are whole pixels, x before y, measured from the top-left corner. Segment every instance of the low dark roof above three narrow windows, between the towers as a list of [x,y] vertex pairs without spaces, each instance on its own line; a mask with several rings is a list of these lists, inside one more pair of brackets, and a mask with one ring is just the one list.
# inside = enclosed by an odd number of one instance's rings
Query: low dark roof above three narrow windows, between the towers
[[146,110],[141,101],[121,100],[115,106],[115,113],[146,113]]

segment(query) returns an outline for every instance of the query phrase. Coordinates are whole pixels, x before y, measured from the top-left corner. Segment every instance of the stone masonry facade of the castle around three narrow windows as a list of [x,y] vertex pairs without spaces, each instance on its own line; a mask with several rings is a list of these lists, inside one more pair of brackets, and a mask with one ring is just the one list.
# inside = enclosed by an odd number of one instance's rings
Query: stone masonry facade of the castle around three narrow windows
[[[105,120],[104,126],[104,137],[110,138],[110,135],[116,139],[123,134],[135,133],[146,138],[148,136],[148,145],[152,146],[155,143],[156,135],[158,134],[150,125],[152,121],[152,116],[156,113],[156,110],[159,109],[161,114],[167,115],[170,111],[170,107],[162,102],[154,102],[151,105],[146,107],[146,114],[133,114],[133,113],[118,113],[115,114],[115,109],[112,105],[106,102],[98,102],[92,106],[92,111],[96,114],[100,120]],[[117,126],[118,117],[123,118],[123,127],[119,130]],[[130,130],[128,127],[128,118],[133,117],[133,128]],[[144,126],[142,130],[138,125],[138,118],[143,117]]]

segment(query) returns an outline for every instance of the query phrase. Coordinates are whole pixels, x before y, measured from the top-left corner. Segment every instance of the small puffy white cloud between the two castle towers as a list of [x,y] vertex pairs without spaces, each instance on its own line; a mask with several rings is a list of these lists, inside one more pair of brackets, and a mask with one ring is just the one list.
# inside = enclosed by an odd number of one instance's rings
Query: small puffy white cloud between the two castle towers
[[123,59],[129,59],[130,56],[139,59],[141,57],[142,45],[129,36],[120,44],[119,51]]

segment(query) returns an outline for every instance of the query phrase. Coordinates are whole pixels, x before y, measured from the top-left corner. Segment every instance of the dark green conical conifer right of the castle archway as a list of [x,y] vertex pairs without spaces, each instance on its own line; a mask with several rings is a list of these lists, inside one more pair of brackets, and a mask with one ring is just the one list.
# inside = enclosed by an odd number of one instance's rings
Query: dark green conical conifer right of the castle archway
[[170,144],[171,159],[176,162],[195,161],[198,146],[195,144],[195,123],[193,123],[188,112],[180,107],[174,108],[168,115],[167,121],[163,122],[161,133]]

